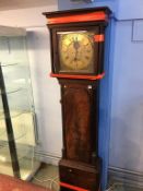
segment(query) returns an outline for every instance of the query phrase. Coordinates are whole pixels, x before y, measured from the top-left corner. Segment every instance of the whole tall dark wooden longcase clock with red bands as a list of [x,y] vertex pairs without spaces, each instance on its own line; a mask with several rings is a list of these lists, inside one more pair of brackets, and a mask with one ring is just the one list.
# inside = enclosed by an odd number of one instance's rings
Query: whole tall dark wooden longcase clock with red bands
[[61,86],[63,150],[61,191],[98,191],[99,81],[104,77],[108,8],[46,12],[51,45],[51,76]]

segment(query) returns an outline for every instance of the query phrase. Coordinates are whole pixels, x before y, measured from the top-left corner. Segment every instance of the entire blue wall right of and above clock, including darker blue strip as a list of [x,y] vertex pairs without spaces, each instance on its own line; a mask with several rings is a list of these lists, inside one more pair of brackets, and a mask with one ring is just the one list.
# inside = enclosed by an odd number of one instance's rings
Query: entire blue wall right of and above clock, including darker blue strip
[[99,148],[104,160],[104,190],[108,166],[143,174],[143,1],[95,1],[75,4],[59,0],[59,9],[108,5],[114,12],[107,29],[110,38],[106,43],[106,77],[100,88]]

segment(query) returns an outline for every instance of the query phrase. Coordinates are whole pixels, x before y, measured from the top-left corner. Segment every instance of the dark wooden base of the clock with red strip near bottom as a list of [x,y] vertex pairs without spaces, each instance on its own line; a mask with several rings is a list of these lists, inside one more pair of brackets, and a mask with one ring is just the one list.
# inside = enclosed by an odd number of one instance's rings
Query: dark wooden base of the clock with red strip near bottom
[[61,159],[59,163],[60,191],[98,191],[102,162],[96,158],[95,166],[81,162]]

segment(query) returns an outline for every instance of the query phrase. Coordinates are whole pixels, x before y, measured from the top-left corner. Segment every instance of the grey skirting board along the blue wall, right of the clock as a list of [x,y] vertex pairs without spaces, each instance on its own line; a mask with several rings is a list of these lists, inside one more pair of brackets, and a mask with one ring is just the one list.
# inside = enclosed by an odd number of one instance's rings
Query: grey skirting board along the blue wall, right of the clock
[[132,188],[143,189],[143,174],[122,168],[109,167],[109,183],[122,183]]

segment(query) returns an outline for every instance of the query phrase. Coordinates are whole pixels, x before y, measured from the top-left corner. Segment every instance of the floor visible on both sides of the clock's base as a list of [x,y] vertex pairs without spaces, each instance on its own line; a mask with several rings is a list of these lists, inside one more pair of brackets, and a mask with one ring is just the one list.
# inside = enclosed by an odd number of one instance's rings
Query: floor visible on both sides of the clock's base
[[[53,191],[59,191],[58,167],[43,164],[38,172],[33,178],[32,182],[44,187],[45,190],[50,188]],[[140,190],[123,186],[121,183],[115,183],[106,191],[143,191],[143,189]]]

